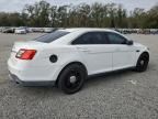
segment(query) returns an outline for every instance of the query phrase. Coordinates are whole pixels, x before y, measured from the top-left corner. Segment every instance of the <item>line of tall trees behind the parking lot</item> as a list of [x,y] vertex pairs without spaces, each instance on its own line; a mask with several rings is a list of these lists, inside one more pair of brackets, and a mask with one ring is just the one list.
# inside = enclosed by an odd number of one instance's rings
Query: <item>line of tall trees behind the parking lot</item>
[[42,0],[25,4],[22,12],[0,12],[0,26],[158,29],[158,4],[148,11],[135,8],[128,12],[115,3],[58,7]]

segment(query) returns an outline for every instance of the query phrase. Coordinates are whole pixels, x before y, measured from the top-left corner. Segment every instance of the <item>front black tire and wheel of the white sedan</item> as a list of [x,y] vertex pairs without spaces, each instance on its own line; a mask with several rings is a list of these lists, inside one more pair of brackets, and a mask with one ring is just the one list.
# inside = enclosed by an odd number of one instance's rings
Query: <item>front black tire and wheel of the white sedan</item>
[[147,69],[148,66],[148,62],[149,62],[149,55],[147,53],[143,53],[136,64],[136,72],[145,72]]

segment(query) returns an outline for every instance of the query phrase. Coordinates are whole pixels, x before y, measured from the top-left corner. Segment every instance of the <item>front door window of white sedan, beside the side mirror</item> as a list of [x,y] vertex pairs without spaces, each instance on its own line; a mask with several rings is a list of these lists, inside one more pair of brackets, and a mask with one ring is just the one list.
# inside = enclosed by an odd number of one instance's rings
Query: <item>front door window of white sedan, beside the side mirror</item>
[[106,33],[111,44],[126,44],[126,39],[116,33]]

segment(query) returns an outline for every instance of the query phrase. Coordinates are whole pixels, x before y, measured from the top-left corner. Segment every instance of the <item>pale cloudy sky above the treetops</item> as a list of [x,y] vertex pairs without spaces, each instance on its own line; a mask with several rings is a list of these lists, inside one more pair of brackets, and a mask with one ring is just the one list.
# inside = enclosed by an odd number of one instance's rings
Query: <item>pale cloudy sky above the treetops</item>
[[[41,0],[0,0],[0,11],[14,12],[21,11],[25,4],[33,4],[36,1]],[[153,6],[158,3],[158,0],[46,0],[54,6],[63,4],[79,4],[82,2],[93,3],[93,2],[103,2],[103,3],[121,3],[128,11],[134,8],[150,9]]]

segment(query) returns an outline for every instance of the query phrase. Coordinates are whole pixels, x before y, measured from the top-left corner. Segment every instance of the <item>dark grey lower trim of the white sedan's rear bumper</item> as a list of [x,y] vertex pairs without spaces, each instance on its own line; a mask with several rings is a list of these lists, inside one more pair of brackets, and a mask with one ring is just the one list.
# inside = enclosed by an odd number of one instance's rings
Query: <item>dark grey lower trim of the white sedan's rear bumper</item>
[[47,80],[24,82],[24,80],[21,80],[16,75],[11,74],[10,72],[9,72],[9,78],[22,86],[55,86],[55,84],[56,84],[55,80],[52,80],[52,82],[47,82]]

